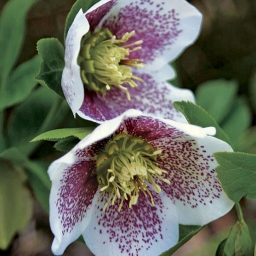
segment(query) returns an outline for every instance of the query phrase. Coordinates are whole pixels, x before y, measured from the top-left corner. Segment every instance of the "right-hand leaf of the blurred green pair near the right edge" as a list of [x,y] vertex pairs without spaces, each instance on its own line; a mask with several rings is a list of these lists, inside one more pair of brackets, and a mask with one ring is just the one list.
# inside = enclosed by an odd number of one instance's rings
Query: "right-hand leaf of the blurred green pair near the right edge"
[[242,132],[250,127],[251,112],[247,102],[243,98],[239,98],[231,113],[222,125],[222,129],[229,136],[232,145],[235,145]]

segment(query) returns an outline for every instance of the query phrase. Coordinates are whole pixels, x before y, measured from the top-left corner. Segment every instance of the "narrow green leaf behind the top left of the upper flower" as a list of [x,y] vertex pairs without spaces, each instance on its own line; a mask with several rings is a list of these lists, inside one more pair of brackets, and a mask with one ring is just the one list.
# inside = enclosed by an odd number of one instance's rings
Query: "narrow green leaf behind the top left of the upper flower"
[[64,42],[65,42],[65,38],[67,36],[67,32],[71,26],[71,24],[73,23],[77,12],[79,12],[79,10],[82,8],[83,9],[83,13],[85,13],[91,6],[93,6],[95,3],[97,3],[99,0],[77,0],[70,12],[67,15],[66,18],[66,23],[65,23],[65,30],[64,30]]

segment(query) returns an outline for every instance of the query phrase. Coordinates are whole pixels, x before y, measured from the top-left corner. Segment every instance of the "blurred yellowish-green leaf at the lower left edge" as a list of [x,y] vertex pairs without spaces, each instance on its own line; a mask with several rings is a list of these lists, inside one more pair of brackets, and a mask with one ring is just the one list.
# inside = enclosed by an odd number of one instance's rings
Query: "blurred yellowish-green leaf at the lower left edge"
[[24,229],[33,213],[33,200],[19,167],[0,161],[0,249],[8,248],[13,236]]

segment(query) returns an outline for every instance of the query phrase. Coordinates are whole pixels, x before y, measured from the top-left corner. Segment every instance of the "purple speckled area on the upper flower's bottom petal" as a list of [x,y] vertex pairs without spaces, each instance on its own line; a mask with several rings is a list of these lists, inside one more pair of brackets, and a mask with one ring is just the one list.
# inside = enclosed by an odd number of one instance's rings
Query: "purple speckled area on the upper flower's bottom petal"
[[141,77],[143,82],[138,82],[137,88],[129,89],[131,101],[127,100],[125,93],[119,88],[113,88],[104,95],[85,91],[80,111],[101,121],[113,119],[130,108],[161,115],[167,119],[182,119],[182,114],[173,107],[173,101],[175,97],[177,100],[178,95],[172,95],[172,88],[168,83],[156,82],[148,74],[136,75]]

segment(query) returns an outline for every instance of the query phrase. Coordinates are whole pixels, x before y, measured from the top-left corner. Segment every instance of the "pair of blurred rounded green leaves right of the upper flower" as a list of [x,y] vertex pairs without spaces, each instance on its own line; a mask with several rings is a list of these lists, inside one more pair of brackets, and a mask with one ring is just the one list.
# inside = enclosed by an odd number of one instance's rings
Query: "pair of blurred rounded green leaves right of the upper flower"
[[[239,137],[250,127],[252,113],[244,96],[238,96],[238,84],[224,79],[211,80],[196,89],[196,102],[222,127],[234,150],[241,150]],[[241,145],[240,145],[241,146]]]

